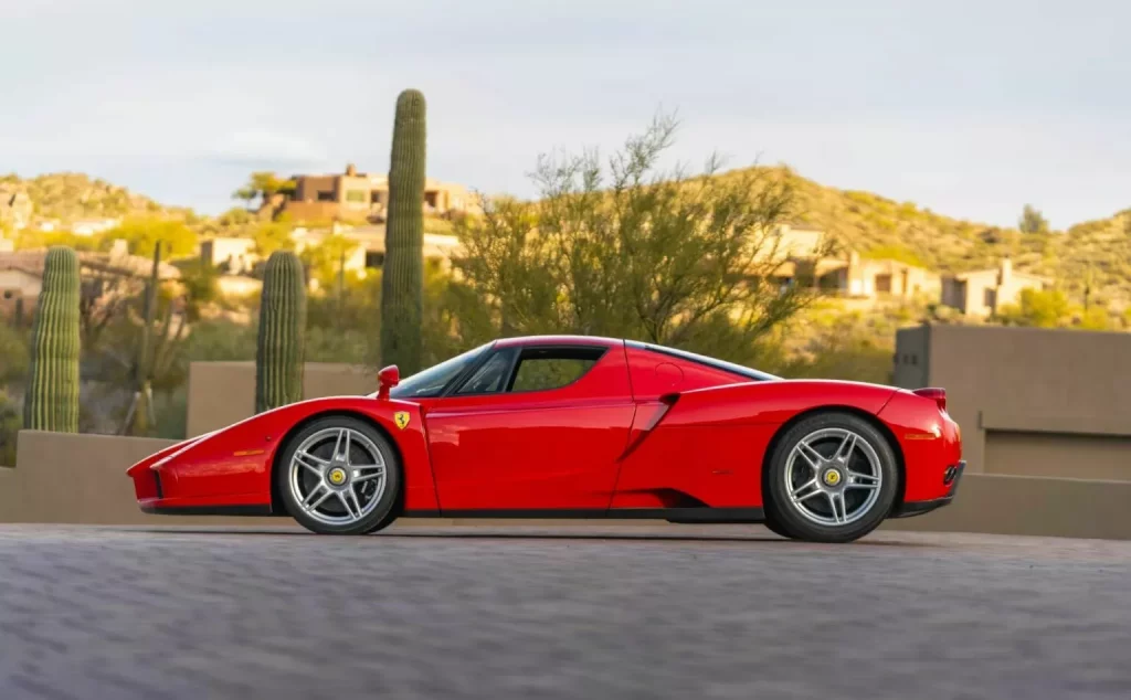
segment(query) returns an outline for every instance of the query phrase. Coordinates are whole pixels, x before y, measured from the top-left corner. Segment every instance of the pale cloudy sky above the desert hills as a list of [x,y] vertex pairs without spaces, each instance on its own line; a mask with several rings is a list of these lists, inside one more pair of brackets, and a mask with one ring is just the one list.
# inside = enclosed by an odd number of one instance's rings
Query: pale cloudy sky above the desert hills
[[252,170],[387,172],[415,87],[430,176],[487,193],[664,111],[672,162],[1067,227],[1131,206],[1129,26],[1123,0],[0,0],[0,172],[215,214]]

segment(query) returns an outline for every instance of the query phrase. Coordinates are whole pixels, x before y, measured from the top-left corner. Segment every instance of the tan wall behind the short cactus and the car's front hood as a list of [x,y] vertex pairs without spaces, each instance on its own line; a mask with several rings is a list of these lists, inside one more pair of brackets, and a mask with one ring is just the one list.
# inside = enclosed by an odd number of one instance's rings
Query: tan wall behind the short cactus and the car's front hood
[[[303,396],[352,396],[377,391],[377,373],[346,364],[308,362]],[[253,362],[193,362],[189,365],[185,431],[193,438],[252,416],[256,412]]]

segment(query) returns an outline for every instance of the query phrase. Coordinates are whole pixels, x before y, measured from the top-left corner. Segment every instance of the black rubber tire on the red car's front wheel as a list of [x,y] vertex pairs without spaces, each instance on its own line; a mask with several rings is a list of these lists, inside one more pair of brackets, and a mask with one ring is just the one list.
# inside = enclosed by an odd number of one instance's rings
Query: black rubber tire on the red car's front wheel
[[[351,455],[356,455],[357,452],[355,450],[359,449],[362,450],[361,455],[365,455],[371,451],[371,448],[375,448],[385,464],[383,489],[378,494],[377,486],[374,486],[374,493],[372,494],[373,498],[364,502],[362,501],[364,491],[362,492],[362,495],[357,495],[357,492],[354,491],[355,495],[353,496],[353,503],[356,504],[357,512],[362,512],[363,515],[361,518],[348,522],[327,522],[312,516],[301,505],[292,489],[291,473],[294,468],[293,460],[295,452],[304,442],[308,441],[308,439],[333,430],[352,431],[351,435],[355,442],[352,446]],[[363,438],[364,440],[359,438]],[[368,440],[368,444],[365,443],[365,440]],[[319,446],[314,447],[316,450],[321,450],[321,458],[333,456],[331,453],[337,449],[337,446],[331,446],[329,448],[330,452],[328,453],[326,452],[326,447],[323,447],[325,444],[327,443],[319,443]],[[351,473],[352,472],[353,470],[351,470]],[[300,474],[303,473],[300,470]],[[377,430],[369,423],[352,416],[331,415],[311,421],[308,425],[303,426],[302,430],[287,440],[275,467],[274,478],[275,484],[278,487],[278,493],[283,498],[283,504],[286,507],[287,513],[290,513],[291,517],[299,522],[299,525],[319,535],[364,535],[388,527],[394,520],[396,520],[396,504],[403,487],[402,474],[403,470],[400,460],[397,457],[397,451],[392,448],[392,444],[389,442],[388,438],[381,433],[381,431]],[[319,481],[313,475],[303,475],[296,478],[299,478],[300,484],[318,483]],[[359,479],[357,484],[349,484],[349,486],[353,489],[364,489],[361,479]],[[329,482],[325,481],[325,484],[321,487],[328,491]],[[301,485],[300,489],[302,489]],[[314,486],[311,486],[307,491],[305,494],[308,498],[313,490]],[[325,491],[319,492],[316,496],[321,498],[325,493]],[[317,500],[317,498],[313,500]],[[337,493],[333,493],[327,500],[339,501],[340,499],[348,500],[349,496],[343,495],[339,498]],[[375,500],[375,503],[372,503],[373,500]],[[343,513],[342,517],[346,517],[347,510],[344,502],[339,502],[337,504],[329,503],[325,508],[329,510],[331,507],[340,508]],[[327,513],[322,512],[321,509],[318,511],[323,517],[327,516]],[[333,513],[330,515],[333,516]]]

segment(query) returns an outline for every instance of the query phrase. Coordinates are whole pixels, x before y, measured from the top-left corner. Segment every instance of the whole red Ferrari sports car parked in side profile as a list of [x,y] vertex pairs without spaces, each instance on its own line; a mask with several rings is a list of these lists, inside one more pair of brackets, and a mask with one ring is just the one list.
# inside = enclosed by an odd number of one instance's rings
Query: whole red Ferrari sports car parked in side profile
[[848,542],[948,504],[946,391],[784,380],[586,336],[507,338],[379,390],[300,401],[127,474],[153,513],[290,515],[362,534],[397,517],[765,522]]

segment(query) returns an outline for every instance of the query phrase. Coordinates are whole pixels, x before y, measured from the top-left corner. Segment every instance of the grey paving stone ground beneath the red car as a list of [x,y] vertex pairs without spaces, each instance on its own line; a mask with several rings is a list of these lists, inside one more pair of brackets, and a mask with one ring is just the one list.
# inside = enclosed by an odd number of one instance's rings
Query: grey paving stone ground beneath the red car
[[0,699],[1131,698],[1131,543],[0,526]]

